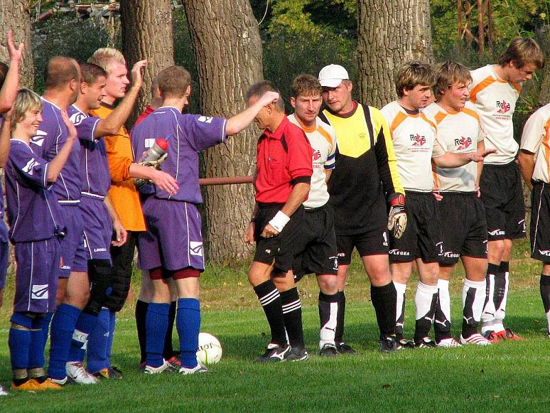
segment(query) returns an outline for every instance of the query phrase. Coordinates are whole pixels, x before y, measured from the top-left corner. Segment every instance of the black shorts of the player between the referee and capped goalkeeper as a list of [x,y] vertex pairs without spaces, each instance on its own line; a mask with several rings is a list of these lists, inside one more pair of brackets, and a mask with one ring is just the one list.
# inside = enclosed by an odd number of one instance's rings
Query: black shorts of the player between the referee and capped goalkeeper
[[299,281],[306,274],[333,274],[338,272],[334,212],[324,205],[306,209],[302,231],[298,237],[298,251],[292,269]]

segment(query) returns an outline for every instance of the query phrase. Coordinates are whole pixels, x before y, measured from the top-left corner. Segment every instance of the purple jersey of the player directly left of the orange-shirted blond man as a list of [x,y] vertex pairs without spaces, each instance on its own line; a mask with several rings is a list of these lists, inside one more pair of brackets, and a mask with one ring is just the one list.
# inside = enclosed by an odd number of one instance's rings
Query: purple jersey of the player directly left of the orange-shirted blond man
[[102,138],[94,138],[94,131],[101,119],[85,114],[74,105],[69,106],[67,112],[80,141],[80,191],[93,198],[104,197],[111,187],[111,176],[105,142]]

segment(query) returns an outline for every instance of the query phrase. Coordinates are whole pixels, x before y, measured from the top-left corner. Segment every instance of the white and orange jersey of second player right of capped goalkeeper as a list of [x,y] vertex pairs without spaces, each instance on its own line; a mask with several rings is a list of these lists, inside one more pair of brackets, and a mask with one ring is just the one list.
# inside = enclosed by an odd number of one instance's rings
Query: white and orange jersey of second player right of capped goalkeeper
[[[466,102],[460,112],[448,112],[437,103],[423,109],[423,113],[437,126],[437,136],[447,150],[455,153],[477,151],[477,144],[485,138],[476,107]],[[476,162],[468,162],[458,168],[435,167],[435,184],[440,191],[475,191]]]

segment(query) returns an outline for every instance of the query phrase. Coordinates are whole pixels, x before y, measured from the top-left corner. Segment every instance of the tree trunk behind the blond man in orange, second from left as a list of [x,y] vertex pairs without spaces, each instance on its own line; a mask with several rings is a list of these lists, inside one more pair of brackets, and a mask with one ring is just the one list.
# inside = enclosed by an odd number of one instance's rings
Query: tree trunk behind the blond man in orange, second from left
[[122,54],[129,68],[142,59],[148,61],[142,92],[128,120],[133,125],[151,100],[153,78],[174,64],[172,6],[169,0],[121,0],[120,22]]

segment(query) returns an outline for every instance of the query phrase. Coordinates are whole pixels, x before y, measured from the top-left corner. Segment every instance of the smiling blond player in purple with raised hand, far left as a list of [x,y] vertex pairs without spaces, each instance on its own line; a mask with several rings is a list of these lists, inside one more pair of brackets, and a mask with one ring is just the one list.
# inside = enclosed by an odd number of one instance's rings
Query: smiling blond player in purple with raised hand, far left
[[56,307],[60,270],[59,238],[65,235],[61,207],[52,185],[72,151],[76,130],[67,113],[61,120],[67,137],[58,154],[47,162],[30,147],[42,120],[40,96],[21,89],[12,113],[12,142],[5,167],[10,241],[17,262],[16,289],[8,345],[14,390],[53,390],[62,387],[45,376],[46,314]]

